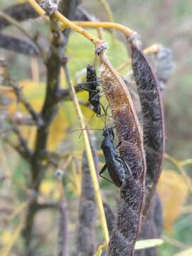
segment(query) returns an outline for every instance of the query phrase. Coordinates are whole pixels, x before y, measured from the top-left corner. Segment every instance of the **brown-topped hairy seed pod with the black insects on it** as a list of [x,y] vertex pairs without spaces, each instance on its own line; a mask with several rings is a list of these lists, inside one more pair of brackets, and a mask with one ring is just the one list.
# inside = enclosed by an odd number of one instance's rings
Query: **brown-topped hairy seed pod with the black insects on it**
[[[132,256],[142,221],[146,162],[142,129],[124,81],[114,70],[105,54],[100,53],[102,87],[112,110],[119,142],[119,154],[129,165],[124,186],[120,190],[120,205],[110,238],[108,255]],[[135,184],[135,181],[137,184]]]

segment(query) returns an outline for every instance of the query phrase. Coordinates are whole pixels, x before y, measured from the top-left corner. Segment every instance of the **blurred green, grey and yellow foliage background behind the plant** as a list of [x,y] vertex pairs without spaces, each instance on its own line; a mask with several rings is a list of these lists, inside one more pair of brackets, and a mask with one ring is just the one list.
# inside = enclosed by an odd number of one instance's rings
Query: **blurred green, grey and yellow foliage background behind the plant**
[[[21,1],[17,1],[21,2]],[[1,10],[6,6],[16,1],[1,0]],[[190,0],[108,0],[110,4],[114,21],[122,23],[129,28],[134,29],[142,36],[143,47],[147,47],[152,43],[161,43],[163,46],[171,48],[174,54],[174,73],[171,75],[164,92],[164,108],[166,119],[166,152],[174,156],[178,161],[190,159],[192,152],[192,34],[191,34],[191,9],[192,2]],[[94,14],[100,20],[107,21],[107,15],[100,1],[84,0],[82,6],[85,6],[87,11]],[[34,26],[36,24],[36,26]],[[26,21],[23,26],[30,31],[37,31],[48,38],[48,26],[41,19],[36,21]],[[20,35],[16,28],[6,28],[6,33]],[[92,31],[97,34],[97,31]],[[127,49],[125,48],[123,36],[115,31],[115,35],[119,40],[114,40],[112,34],[103,32],[103,39],[110,45],[109,57],[115,68],[127,60]],[[120,54],[119,54],[120,53]],[[15,54],[6,50],[0,49],[1,58],[4,57],[8,64],[12,78],[18,80],[19,85],[23,87],[23,93],[29,102],[33,105],[36,111],[40,111],[46,89],[46,69],[43,67],[41,60],[36,58],[28,58],[25,55]],[[85,69],[88,63],[94,61],[94,50],[92,44],[85,40],[82,36],[71,33],[67,55],[69,58],[70,74],[73,81],[78,82],[78,79],[85,79],[85,72],[78,75],[79,72]],[[129,70],[129,66],[122,71],[122,74]],[[80,73],[81,74],[81,73]],[[78,75],[78,77],[77,77]],[[63,74],[60,74],[60,84],[66,87]],[[80,92],[80,100],[87,101],[87,92]],[[4,100],[5,95],[0,95],[0,100]],[[9,98],[8,111],[10,115],[15,115],[16,112],[26,113],[20,105],[17,104],[14,94],[6,93]],[[105,99],[104,99],[105,101]],[[57,152],[73,152],[73,160],[70,161],[68,175],[66,178],[67,197],[73,198],[70,201],[69,208],[73,210],[70,218],[71,238],[75,230],[75,217],[77,212],[77,198],[80,196],[80,159],[79,152],[83,149],[82,138],[78,139],[80,132],[73,132],[78,128],[73,104],[69,101],[61,103],[62,106],[58,114],[55,116],[53,124],[49,128],[48,149]],[[92,112],[82,107],[87,120],[92,117]],[[103,121],[93,117],[91,126],[102,128]],[[22,127],[23,137],[28,140],[28,146],[33,149],[36,127]],[[96,134],[100,134],[97,131]],[[14,138],[13,138],[14,139]],[[97,141],[97,148],[100,149],[100,139]],[[65,141],[65,143],[63,143]],[[73,144],[69,143],[73,141]],[[8,208],[8,213],[12,213],[19,206],[25,206],[26,200],[26,181],[28,181],[28,164],[19,158],[18,154],[9,146],[1,143],[1,173],[6,174],[6,181],[1,182],[1,206]],[[102,158],[101,158],[102,161]],[[61,162],[62,166],[63,162]],[[101,163],[102,165],[102,163]],[[188,184],[191,184],[191,166],[183,167],[186,171]],[[101,186],[105,190],[107,200],[112,207],[115,207],[114,186],[101,181]],[[186,184],[186,179],[181,175],[178,166],[171,164],[170,161],[164,161],[164,171],[159,182],[159,193],[161,202],[164,208],[164,245],[160,247],[160,255],[169,256],[174,253],[186,249],[192,244],[192,204],[191,190]],[[118,194],[118,193],[117,193]],[[40,201],[57,201],[58,188],[55,178],[53,177],[53,169],[48,171],[46,179],[41,184]],[[9,198],[9,201],[7,201]],[[46,228],[38,228],[38,223],[46,220]],[[54,223],[55,213],[43,212],[43,215],[38,215],[36,226],[38,235],[45,240],[45,244],[53,247],[52,252],[56,247],[55,238],[57,224]],[[42,226],[41,226],[42,227]],[[14,232],[19,230],[18,218],[11,219],[11,225],[7,228],[6,225],[1,225],[1,246],[10,245],[10,239]],[[52,231],[50,231],[52,230]],[[46,238],[43,234],[46,235]],[[73,240],[73,239],[72,239]],[[73,241],[70,240],[71,244]],[[21,241],[17,242],[19,251],[22,247]],[[43,250],[43,249],[42,249]],[[47,249],[48,250],[48,247]],[[43,254],[42,254],[43,255]],[[53,255],[53,254],[50,254]]]

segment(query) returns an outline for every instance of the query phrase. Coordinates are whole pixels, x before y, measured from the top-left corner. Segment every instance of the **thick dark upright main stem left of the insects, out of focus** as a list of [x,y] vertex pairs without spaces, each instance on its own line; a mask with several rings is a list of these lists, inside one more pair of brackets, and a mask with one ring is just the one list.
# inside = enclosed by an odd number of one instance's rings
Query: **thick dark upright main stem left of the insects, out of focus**
[[[75,11],[75,9],[73,10]],[[34,149],[33,159],[31,160],[31,186],[38,191],[41,181],[46,173],[47,164],[43,165],[43,159],[46,152],[46,144],[48,139],[48,127],[50,126],[55,113],[58,111],[58,92],[59,77],[60,77],[60,65],[62,63],[65,41],[63,41],[63,35],[58,31],[58,24],[55,23],[53,18],[51,22],[51,29],[53,32],[52,46],[50,47],[50,55],[46,62],[47,68],[47,86],[46,86],[46,98],[41,111],[41,117],[43,119],[43,126],[38,127],[36,134],[36,146]],[[65,38],[66,39],[66,38]],[[28,207],[26,214],[26,225],[24,228],[23,236],[25,238],[26,256],[34,255],[31,250],[31,240],[33,238],[33,221],[36,215],[36,201]],[[63,210],[62,206],[60,210]]]

